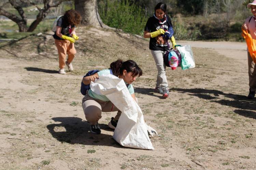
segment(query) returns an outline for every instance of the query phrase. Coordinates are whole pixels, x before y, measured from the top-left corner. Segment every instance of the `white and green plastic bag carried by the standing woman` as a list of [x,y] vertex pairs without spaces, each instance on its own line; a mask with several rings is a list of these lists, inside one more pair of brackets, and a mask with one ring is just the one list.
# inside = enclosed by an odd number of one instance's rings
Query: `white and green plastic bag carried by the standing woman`
[[186,70],[188,68],[196,67],[193,52],[190,45],[185,45],[182,47],[176,47],[176,49],[181,53],[181,69]]

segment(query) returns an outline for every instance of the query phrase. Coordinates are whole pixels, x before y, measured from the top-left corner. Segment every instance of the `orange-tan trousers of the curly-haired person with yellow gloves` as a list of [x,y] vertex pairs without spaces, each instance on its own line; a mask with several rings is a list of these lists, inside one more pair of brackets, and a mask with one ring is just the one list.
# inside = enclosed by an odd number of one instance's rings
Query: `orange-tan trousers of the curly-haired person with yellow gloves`
[[69,40],[58,40],[55,39],[55,45],[59,54],[59,68],[63,69],[65,67],[66,55],[68,54],[68,63],[73,61],[75,57],[75,46],[74,43],[70,43]]

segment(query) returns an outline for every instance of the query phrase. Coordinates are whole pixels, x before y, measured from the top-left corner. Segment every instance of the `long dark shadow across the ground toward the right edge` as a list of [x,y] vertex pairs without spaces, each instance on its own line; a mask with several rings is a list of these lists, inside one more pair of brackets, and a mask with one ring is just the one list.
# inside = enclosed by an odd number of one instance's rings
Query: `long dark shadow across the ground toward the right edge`
[[[256,100],[247,99],[246,96],[224,93],[219,90],[209,90],[209,89],[182,89],[182,88],[172,88],[170,90],[179,91],[181,93],[189,93],[188,95],[196,96],[201,99],[211,100],[212,102],[219,103],[226,106],[231,106],[238,108],[234,112],[245,117],[256,118],[256,113],[252,112],[256,110]],[[229,99],[225,99],[229,98]],[[252,110],[252,111],[248,111]]]

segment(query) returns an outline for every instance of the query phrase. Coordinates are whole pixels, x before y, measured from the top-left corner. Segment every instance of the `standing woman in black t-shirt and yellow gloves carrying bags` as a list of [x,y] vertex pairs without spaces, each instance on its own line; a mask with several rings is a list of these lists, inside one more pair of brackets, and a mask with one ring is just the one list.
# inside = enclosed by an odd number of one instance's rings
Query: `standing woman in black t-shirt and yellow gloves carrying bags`
[[[158,70],[155,91],[162,94],[165,98],[169,97],[169,86],[163,56],[168,51],[168,45],[162,35],[165,34],[165,31],[169,27],[172,27],[172,22],[166,14],[166,4],[160,2],[155,6],[155,14],[147,20],[143,37],[150,38],[149,49],[151,50]],[[171,41],[172,45],[170,46],[174,48],[176,43],[173,36],[171,37]]]

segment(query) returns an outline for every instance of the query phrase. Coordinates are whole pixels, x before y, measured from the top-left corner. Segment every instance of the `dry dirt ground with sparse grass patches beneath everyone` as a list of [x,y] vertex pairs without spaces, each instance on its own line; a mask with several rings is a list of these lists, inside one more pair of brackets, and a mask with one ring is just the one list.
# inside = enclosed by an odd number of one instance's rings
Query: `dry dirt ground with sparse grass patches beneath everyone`
[[[256,169],[256,100],[247,100],[245,43],[177,41],[193,47],[196,68],[167,68],[170,97],[154,92],[148,41],[81,27],[74,72],[58,74],[51,35],[0,44],[0,169]],[[143,75],[134,82],[155,150],[120,146],[103,113],[91,134],[80,83],[91,69],[122,58]]]

